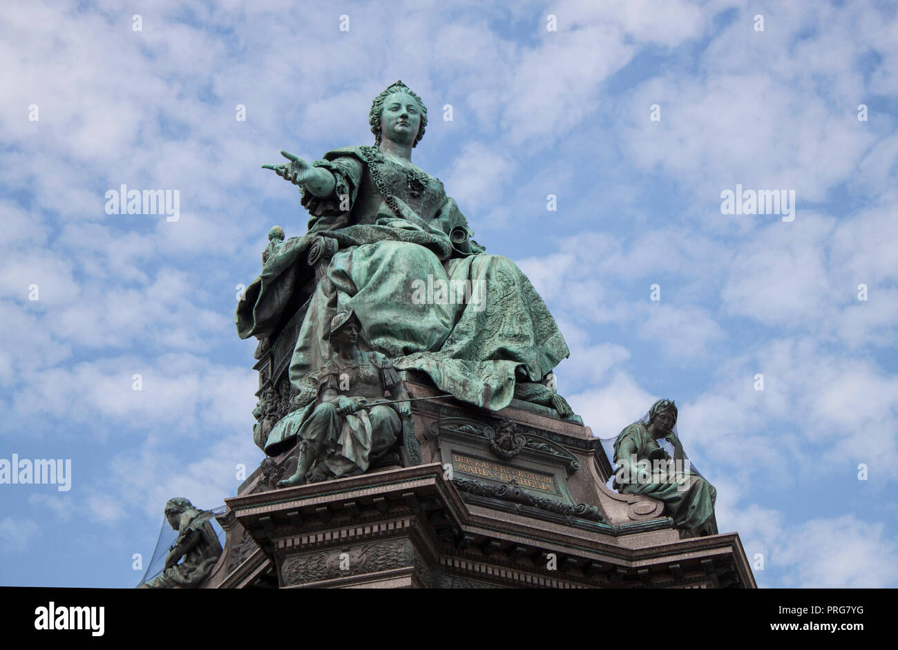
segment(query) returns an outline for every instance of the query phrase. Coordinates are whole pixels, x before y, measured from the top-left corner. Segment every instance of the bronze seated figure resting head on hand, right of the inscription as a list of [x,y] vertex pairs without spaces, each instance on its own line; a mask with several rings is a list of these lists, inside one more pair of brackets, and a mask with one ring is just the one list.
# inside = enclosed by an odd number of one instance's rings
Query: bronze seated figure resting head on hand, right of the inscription
[[[716,535],[714,504],[718,491],[691,469],[676,435],[673,400],[658,400],[639,422],[627,426],[614,441],[614,487],[627,495],[654,497],[674,518],[681,537]],[[674,458],[658,444],[666,441]]]

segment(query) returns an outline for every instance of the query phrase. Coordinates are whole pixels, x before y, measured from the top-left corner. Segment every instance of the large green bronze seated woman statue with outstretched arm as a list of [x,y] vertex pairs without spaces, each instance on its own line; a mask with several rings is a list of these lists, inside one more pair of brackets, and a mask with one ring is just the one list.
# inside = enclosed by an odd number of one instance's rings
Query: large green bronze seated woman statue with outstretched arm
[[[374,146],[349,146],[307,163],[282,152],[267,165],[300,185],[309,232],[272,250],[237,310],[241,338],[267,336],[295,285],[297,259],[318,234],[339,250],[318,282],[289,368],[297,389],[330,359],[323,336],[339,311],[361,323],[365,344],[400,370],[482,408],[513,397],[571,411],[543,382],[568,346],[533,285],[510,259],[489,255],[443,183],[411,163],[427,109],[405,84],[374,100]],[[360,344],[361,345],[361,344]]]

